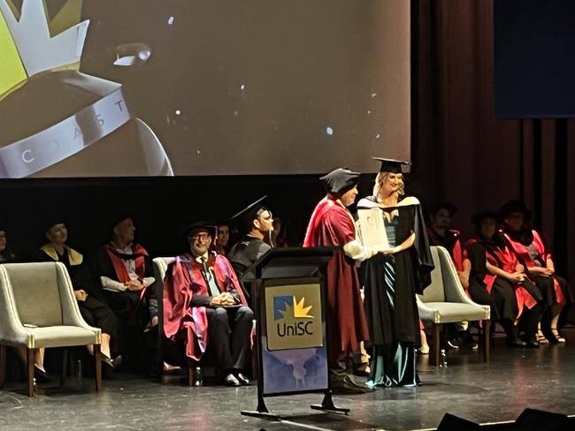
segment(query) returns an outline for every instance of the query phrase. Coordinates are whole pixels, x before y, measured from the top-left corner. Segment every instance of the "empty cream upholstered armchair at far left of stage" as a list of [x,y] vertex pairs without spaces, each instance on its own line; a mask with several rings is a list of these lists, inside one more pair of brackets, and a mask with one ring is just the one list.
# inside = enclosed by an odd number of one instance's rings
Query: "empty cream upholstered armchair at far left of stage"
[[82,319],[70,276],[62,263],[0,265],[0,389],[4,388],[6,346],[26,349],[27,393],[32,397],[38,349],[94,344],[99,391],[100,336],[100,329],[88,326]]

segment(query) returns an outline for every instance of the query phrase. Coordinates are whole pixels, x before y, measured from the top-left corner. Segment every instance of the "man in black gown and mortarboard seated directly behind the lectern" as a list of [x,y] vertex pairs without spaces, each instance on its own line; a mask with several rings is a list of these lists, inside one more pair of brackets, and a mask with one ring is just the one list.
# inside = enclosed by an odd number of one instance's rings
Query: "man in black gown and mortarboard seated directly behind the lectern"
[[[270,239],[273,231],[273,218],[272,211],[265,208],[266,197],[249,204],[247,208],[232,217],[242,232],[242,238],[234,244],[230,253],[227,254],[227,259],[232,263],[239,280],[242,279],[246,269],[272,249]],[[242,288],[250,303],[250,284],[242,282]]]

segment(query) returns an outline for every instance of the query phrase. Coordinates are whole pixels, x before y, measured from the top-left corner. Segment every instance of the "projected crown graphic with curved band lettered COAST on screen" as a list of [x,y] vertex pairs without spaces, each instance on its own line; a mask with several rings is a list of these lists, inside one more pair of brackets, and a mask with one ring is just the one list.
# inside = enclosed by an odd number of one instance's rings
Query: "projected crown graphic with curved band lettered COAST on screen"
[[[122,86],[79,72],[89,24],[80,22],[82,5],[67,0],[50,17],[46,0],[22,0],[21,9],[0,0],[0,178],[172,176]],[[126,46],[145,44],[116,49]]]

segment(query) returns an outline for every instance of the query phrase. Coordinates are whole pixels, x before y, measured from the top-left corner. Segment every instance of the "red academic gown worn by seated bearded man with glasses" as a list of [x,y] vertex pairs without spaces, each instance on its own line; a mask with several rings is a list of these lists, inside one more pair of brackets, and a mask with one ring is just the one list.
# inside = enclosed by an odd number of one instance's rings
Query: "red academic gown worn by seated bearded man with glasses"
[[[247,305],[234,268],[221,254],[211,253],[207,261],[212,268],[220,291],[229,291]],[[206,351],[208,316],[205,306],[190,306],[195,295],[210,296],[210,289],[202,274],[202,265],[190,254],[176,258],[164,280],[164,332],[173,339],[181,330],[187,332],[186,356],[200,360]]]

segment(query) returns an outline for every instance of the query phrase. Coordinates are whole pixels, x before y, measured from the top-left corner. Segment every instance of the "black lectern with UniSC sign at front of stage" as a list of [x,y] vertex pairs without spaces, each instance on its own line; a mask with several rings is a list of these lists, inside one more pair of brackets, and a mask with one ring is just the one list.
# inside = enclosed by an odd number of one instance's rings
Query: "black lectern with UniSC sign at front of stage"
[[348,413],[332,401],[327,362],[326,299],[320,269],[338,247],[272,249],[242,276],[251,282],[257,319],[257,411],[243,415],[280,420],[265,397],[323,393],[312,409]]

